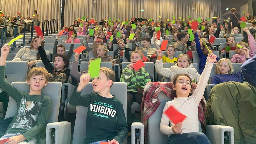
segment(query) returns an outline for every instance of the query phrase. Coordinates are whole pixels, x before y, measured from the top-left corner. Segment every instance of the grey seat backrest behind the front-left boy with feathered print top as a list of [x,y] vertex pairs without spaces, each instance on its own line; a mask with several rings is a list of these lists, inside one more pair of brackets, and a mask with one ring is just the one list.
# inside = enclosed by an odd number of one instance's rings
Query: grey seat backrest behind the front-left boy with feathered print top
[[[29,92],[29,85],[27,82],[13,82],[12,85],[23,92]],[[61,82],[48,82],[48,84],[42,89],[41,93],[51,98],[51,114],[47,120],[47,123],[57,122],[60,108],[60,96],[61,96]],[[5,119],[13,117],[17,110],[17,102],[10,97],[8,108],[6,111]]]

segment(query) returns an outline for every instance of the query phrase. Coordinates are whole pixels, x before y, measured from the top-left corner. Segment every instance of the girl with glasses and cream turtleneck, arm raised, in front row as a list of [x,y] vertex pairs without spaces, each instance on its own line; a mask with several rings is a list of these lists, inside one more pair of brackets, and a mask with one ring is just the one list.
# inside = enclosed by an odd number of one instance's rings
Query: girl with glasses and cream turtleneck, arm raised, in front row
[[[210,77],[212,63],[216,60],[213,53],[207,57],[205,69],[202,73],[201,80],[195,91],[191,94],[192,79],[187,74],[177,74],[174,76],[172,89],[176,93],[176,98],[168,101],[163,109],[160,123],[160,131],[168,135],[167,143],[181,144],[210,144],[210,140],[204,133],[199,132],[198,126],[198,105],[203,98],[204,90]],[[183,122],[174,124],[164,113],[170,106],[186,115]]]

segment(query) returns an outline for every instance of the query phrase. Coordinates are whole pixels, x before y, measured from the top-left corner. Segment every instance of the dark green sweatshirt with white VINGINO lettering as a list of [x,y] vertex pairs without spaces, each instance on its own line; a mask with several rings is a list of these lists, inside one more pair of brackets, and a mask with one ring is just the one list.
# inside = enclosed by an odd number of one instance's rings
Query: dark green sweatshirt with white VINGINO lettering
[[81,96],[80,92],[74,91],[70,104],[89,107],[84,144],[112,139],[120,144],[124,141],[128,126],[123,105],[118,98],[105,98],[96,92]]

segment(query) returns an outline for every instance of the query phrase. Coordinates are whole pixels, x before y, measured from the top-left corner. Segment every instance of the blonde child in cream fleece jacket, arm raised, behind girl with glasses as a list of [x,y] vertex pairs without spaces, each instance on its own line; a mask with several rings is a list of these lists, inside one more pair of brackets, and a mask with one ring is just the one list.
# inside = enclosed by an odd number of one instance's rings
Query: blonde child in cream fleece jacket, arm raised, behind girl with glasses
[[163,60],[160,55],[161,54],[158,53],[157,61],[155,64],[156,72],[158,74],[160,74],[163,77],[169,78],[170,80],[172,80],[172,78],[176,74],[187,74],[190,77],[190,79],[195,81],[195,83],[199,82],[200,74],[197,72],[193,64],[190,62],[188,55],[180,54],[178,56],[177,63],[174,66],[171,66],[170,68],[163,68]]

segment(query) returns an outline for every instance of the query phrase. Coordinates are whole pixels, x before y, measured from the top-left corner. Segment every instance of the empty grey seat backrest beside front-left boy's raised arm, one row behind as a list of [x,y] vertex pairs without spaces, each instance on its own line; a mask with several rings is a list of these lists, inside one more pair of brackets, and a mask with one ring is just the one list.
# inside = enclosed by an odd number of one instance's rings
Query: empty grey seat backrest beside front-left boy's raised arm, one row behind
[[26,81],[28,72],[28,62],[6,62],[5,74],[7,80],[12,83],[14,81]]

